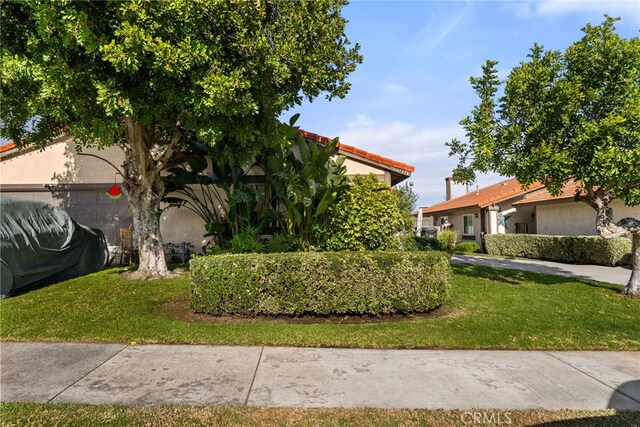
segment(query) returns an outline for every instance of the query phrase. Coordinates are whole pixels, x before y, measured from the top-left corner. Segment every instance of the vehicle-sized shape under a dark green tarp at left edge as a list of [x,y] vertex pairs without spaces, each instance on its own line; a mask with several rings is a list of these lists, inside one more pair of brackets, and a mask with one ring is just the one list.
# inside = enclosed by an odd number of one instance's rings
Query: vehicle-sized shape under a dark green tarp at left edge
[[0,194],[0,296],[102,270],[104,234],[48,203]]

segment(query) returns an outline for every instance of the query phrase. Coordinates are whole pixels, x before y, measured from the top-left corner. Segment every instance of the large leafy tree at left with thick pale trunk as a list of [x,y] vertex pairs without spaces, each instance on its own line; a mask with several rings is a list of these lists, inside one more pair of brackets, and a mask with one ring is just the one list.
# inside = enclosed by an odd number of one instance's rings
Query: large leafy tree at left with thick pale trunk
[[[2,2],[0,135],[119,146],[138,277],[167,270],[161,172],[187,136],[249,158],[305,97],[343,97],[361,62],[343,0]],[[116,166],[116,165],[114,165]]]

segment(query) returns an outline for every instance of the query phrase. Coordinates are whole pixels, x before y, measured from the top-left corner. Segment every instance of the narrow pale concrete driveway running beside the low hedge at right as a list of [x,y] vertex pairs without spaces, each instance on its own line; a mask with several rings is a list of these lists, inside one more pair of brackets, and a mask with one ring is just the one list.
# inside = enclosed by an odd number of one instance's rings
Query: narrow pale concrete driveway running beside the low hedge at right
[[453,255],[452,263],[500,267],[508,270],[532,271],[534,273],[555,274],[576,279],[597,280],[598,282],[626,285],[631,270],[624,267],[605,267],[602,265],[576,265],[560,262],[522,260],[509,258],[491,258],[473,255]]

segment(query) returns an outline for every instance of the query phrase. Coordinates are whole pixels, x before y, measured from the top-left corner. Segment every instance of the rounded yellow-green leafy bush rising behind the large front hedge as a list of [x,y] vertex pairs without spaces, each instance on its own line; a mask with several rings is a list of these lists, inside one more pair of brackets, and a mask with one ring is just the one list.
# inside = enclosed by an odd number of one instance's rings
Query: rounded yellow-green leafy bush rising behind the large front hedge
[[339,201],[329,208],[321,247],[330,251],[397,249],[395,236],[406,226],[397,193],[373,174],[356,176]]

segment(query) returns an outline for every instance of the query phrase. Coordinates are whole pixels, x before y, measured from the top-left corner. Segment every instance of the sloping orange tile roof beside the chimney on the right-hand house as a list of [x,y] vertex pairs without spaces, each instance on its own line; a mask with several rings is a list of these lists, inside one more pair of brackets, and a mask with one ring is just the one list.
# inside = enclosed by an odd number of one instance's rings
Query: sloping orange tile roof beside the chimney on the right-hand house
[[488,187],[480,188],[476,191],[471,191],[462,196],[454,197],[451,200],[423,208],[422,214],[431,215],[461,208],[483,208],[492,203],[498,203],[524,193],[535,191],[541,187],[543,187],[542,183],[536,182],[525,189],[520,185],[518,180],[511,178]]

